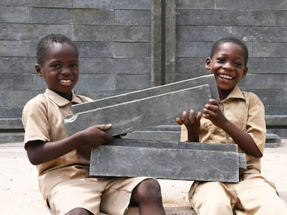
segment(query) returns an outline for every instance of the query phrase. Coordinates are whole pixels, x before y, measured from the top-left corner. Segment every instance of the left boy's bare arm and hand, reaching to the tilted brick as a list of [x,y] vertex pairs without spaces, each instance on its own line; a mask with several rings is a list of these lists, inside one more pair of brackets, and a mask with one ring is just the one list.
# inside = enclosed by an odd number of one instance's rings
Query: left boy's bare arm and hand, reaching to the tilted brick
[[110,128],[110,124],[95,125],[63,140],[55,142],[35,140],[28,142],[26,144],[28,158],[33,165],[40,165],[43,162],[59,158],[65,153],[84,145],[87,147],[98,147],[113,139],[111,135],[104,131]]

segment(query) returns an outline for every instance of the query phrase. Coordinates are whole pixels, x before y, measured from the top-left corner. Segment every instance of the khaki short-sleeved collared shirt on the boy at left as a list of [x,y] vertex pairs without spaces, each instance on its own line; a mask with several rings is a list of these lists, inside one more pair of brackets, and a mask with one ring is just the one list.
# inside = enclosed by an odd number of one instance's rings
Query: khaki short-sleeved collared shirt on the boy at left
[[[33,140],[53,142],[67,138],[64,118],[72,115],[71,104],[92,101],[88,97],[73,94],[71,102],[46,89],[24,106],[22,122],[25,129],[24,147]],[[89,174],[90,148],[79,148],[37,165],[40,191],[46,192],[54,185],[73,178],[85,178]]]

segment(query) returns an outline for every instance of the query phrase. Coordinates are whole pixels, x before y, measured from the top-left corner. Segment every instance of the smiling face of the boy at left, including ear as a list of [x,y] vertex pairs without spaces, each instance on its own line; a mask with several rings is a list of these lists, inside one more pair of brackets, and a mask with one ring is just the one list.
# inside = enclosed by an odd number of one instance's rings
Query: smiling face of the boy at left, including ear
[[71,91],[78,82],[78,53],[67,43],[53,43],[46,51],[43,65],[35,65],[49,89],[71,100]]

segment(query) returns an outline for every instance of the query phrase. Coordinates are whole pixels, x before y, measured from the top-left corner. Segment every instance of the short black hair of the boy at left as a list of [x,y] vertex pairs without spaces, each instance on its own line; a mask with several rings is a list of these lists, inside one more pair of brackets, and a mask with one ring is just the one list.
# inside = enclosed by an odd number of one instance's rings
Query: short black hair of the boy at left
[[46,55],[46,52],[47,52],[47,50],[49,50],[49,47],[53,43],[71,44],[75,48],[75,50],[78,54],[78,48],[77,48],[76,44],[74,44],[73,41],[71,39],[69,39],[69,37],[67,37],[65,35],[61,35],[61,34],[46,35],[46,36],[40,38],[40,41],[37,44],[37,64],[40,64],[40,65],[44,64],[44,57]]

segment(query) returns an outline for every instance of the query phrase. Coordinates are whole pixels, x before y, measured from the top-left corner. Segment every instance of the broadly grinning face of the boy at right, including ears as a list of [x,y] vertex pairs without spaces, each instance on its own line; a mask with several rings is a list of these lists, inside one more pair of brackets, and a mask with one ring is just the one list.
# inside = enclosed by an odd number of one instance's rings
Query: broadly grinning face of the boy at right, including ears
[[216,78],[220,100],[223,100],[232,89],[245,77],[245,53],[243,48],[232,42],[220,44],[213,57],[208,57],[205,68],[209,69]]

